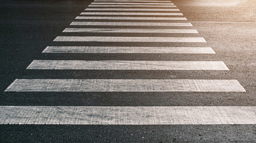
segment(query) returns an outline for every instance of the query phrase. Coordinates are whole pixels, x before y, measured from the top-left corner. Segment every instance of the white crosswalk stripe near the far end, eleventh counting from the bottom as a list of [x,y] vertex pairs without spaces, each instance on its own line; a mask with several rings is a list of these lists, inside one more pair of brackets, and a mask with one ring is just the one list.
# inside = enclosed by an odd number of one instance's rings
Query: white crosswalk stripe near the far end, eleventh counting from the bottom
[[176,5],[89,5],[88,7],[154,7],[154,8],[176,8]]

